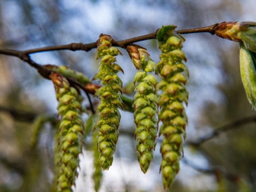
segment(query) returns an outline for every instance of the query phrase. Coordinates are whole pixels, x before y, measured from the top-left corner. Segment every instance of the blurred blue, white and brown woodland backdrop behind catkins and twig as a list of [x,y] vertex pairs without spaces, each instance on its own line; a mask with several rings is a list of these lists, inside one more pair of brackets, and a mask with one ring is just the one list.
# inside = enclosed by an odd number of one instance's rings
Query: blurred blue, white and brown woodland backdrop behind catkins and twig
[[[122,40],[168,24],[185,29],[222,21],[255,21],[255,7],[255,0],[0,0],[0,48],[90,43],[100,33]],[[183,37],[190,70],[189,124],[181,170],[170,191],[255,191],[256,113],[240,79],[239,44],[208,33]],[[138,44],[158,61],[156,40]],[[117,63],[124,70],[120,77],[125,85],[133,80],[135,69],[126,50],[120,51],[123,55],[117,57]],[[35,53],[31,58],[39,64],[67,65],[90,78],[98,69],[95,49]],[[0,191],[48,191],[53,179],[55,131],[51,117],[57,112],[53,85],[21,60],[0,55],[0,90]],[[87,100],[84,105],[88,105]],[[40,118],[49,123],[43,125],[32,148],[33,130]],[[230,125],[230,130],[195,144],[225,125]],[[103,172],[100,192],[164,191],[159,174],[160,142],[148,172],[143,174],[134,129],[133,114],[122,112],[114,161]],[[80,159],[74,191],[92,192],[91,151],[85,148]]]

